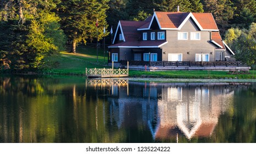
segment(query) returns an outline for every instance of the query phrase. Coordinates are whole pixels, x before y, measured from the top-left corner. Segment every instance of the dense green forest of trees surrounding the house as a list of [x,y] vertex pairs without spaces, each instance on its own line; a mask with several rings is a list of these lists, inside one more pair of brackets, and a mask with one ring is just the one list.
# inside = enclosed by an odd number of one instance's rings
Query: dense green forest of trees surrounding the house
[[0,71],[41,69],[67,45],[75,53],[80,43],[111,37],[118,20],[145,20],[178,5],[212,13],[236,58],[256,63],[256,0],[0,0]]

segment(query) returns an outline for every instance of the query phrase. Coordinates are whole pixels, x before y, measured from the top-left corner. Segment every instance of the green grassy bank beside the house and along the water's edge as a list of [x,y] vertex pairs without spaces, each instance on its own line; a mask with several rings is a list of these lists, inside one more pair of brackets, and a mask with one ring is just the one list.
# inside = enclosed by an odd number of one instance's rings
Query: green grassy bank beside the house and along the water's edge
[[[48,59],[50,63],[56,63],[55,68],[46,69],[43,73],[51,74],[76,74],[84,75],[85,68],[110,68],[107,65],[107,52],[98,50],[98,61],[96,57],[96,48],[78,47],[77,54],[61,52],[59,56]],[[230,75],[222,71],[205,70],[175,70],[161,72],[145,72],[129,70],[129,77],[139,78],[179,78],[179,79],[256,79],[256,71],[250,70],[250,74]]]

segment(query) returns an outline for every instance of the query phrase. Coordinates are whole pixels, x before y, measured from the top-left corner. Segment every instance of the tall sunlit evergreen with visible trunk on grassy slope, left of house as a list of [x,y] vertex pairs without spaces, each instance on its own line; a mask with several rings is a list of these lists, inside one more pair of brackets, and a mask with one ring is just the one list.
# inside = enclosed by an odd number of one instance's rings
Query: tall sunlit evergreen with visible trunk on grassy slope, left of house
[[[109,0],[68,0],[59,4],[59,17],[62,27],[72,42],[72,52],[76,52],[77,43],[97,39],[104,36],[107,28],[106,10]],[[96,21],[97,26],[96,26]]]

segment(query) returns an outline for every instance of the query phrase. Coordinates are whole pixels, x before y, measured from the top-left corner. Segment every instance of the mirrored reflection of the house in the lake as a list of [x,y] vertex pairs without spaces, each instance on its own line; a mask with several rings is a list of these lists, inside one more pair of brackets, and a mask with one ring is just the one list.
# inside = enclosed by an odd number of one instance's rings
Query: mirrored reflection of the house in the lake
[[130,82],[129,96],[108,98],[108,101],[112,101],[112,120],[118,128],[142,124],[154,139],[176,138],[180,133],[192,139],[213,133],[220,114],[228,109],[228,100],[233,98],[233,87]]

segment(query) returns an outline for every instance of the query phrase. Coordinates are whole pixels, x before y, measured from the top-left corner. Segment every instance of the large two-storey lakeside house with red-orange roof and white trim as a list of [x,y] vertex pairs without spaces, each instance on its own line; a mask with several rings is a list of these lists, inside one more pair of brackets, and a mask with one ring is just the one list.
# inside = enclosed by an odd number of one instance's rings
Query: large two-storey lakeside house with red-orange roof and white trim
[[226,61],[235,53],[211,13],[154,12],[145,21],[119,21],[109,62]]

